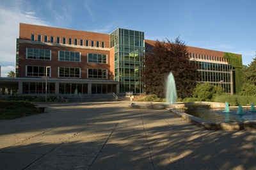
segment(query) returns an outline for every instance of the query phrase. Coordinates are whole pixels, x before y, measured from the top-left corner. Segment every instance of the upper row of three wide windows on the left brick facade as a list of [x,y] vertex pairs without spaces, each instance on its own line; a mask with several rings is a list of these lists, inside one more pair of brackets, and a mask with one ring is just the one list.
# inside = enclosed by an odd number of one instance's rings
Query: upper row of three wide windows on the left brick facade
[[[26,49],[26,59],[38,59],[51,61],[51,50],[47,49]],[[81,61],[81,52],[74,51],[58,51],[59,61]],[[90,63],[107,63],[108,56],[106,54],[88,53],[88,62]]]

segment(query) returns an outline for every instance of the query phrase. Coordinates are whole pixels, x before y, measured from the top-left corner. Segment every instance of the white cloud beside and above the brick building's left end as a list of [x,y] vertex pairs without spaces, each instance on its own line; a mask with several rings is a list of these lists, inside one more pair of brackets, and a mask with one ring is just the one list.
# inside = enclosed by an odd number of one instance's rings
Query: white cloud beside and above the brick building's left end
[[49,24],[36,17],[33,10],[22,12],[19,3],[12,8],[0,6],[0,61],[15,62],[16,38],[19,38],[19,23],[44,25]]

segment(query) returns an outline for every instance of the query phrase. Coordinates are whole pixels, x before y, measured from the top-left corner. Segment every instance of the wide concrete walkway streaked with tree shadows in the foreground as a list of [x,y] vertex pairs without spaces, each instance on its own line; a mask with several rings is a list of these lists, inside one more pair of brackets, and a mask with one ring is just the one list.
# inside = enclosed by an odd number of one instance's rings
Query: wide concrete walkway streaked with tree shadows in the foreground
[[51,104],[0,121],[0,169],[256,169],[256,134],[128,104]]

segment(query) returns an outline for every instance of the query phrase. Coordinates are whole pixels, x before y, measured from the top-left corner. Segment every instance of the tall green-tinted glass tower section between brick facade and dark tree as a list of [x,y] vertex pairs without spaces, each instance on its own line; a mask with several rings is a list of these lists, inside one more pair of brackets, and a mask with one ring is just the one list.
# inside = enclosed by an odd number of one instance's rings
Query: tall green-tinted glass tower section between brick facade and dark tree
[[144,32],[118,28],[111,33],[111,47],[115,48],[115,81],[119,82],[120,93],[142,93]]

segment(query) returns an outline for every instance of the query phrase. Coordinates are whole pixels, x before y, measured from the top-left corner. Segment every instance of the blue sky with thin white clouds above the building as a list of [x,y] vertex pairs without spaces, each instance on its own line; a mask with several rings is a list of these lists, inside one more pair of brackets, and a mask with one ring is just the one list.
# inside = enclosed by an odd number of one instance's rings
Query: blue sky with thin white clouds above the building
[[28,1],[1,0],[1,76],[15,71],[19,23],[111,33],[117,27],[144,31],[150,40],[242,54],[243,64],[255,58],[256,1]]

